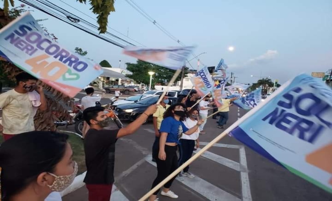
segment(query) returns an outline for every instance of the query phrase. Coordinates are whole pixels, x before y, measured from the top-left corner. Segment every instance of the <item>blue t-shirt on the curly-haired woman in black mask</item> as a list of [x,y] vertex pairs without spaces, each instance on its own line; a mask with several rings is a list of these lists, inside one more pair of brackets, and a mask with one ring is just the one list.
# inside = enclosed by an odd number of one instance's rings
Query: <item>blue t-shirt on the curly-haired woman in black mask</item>
[[167,117],[161,122],[159,131],[168,133],[166,142],[176,142],[179,144],[179,139],[182,137],[182,133],[187,132],[188,128],[183,122],[178,121],[173,117]]

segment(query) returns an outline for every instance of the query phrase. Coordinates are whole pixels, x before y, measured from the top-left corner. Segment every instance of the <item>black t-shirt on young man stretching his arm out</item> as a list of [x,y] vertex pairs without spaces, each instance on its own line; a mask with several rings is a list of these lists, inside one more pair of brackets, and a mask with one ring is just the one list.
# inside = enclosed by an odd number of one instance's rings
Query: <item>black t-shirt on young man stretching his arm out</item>
[[84,138],[87,184],[113,184],[118,130],[89,129]]

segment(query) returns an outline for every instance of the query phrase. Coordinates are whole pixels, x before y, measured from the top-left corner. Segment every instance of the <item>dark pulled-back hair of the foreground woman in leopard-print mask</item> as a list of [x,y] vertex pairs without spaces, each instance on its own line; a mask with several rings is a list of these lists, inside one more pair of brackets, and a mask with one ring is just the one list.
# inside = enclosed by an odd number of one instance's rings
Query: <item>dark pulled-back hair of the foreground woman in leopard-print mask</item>
[[3,201],[24,190],[43,172],[53,173],[66,151],[68,135],[53,131],[19,134],[0,146]]

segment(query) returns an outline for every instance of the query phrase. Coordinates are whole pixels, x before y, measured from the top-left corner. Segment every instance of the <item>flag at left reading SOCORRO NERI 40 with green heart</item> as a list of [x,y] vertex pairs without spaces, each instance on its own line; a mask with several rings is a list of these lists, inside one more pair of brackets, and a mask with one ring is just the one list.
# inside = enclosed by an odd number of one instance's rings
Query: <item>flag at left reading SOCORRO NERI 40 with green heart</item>
[[0,29],[0,56],[70,97],[103,73],[53,41],[29,12]]

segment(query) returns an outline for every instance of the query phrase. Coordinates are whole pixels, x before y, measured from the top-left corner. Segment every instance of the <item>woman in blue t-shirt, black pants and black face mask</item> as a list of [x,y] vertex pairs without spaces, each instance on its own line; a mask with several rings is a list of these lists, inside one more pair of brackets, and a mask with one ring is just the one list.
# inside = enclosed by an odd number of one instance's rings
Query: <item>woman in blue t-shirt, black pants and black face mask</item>
[[[176,150],[182,134],[193,134],[204,122],[200,120],[194,127],[188,129],[182,122],[185,117],[186,106],[182,103],[177,103],[170,106],[164,113],[164,119],[161,122],[159,130],[159,155],[158,159],[156,160],[158,175],[153,181],[152,188],[158,185],[162,180],[164,180],[178,168],[178,157],[176,155]],[[178,198],[175,193],[169,190],[174,179],[175,177],[173,177],[164,185],[164,188],[161,191],[161,195],[171,198]],[[155,201],[157,199],[159,190],[160,189],[158,189],[150,196],[149,201]]]

